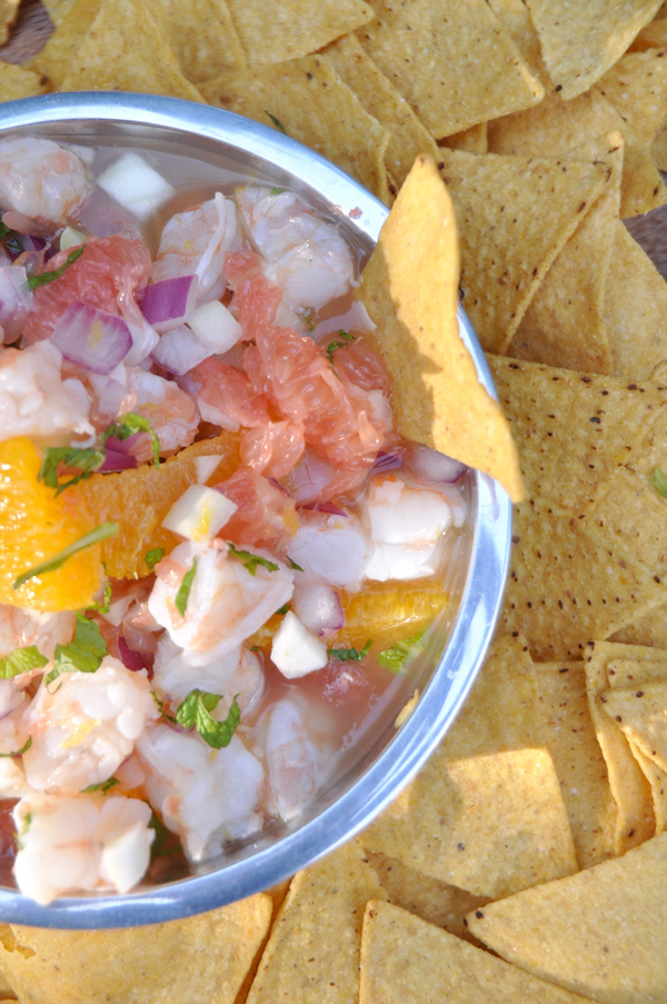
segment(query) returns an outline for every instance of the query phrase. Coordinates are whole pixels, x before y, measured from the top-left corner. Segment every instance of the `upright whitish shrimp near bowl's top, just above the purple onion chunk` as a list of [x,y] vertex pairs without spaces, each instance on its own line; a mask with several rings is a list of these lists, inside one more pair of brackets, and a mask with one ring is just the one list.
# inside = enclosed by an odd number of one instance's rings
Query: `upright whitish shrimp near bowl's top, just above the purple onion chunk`
[[225,291],[225,255],[239,249],[240,232],[236,207],[219,191],[208,202],[178,212],[162,230],[151,279],[196,276],[198,304],[217,300]]

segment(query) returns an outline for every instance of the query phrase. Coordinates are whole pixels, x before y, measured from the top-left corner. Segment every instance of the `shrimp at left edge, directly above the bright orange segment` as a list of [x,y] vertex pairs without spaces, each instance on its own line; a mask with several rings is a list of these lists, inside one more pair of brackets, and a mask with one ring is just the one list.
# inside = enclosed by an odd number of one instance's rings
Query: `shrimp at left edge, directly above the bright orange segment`
[[90,397],[74,378],[62,379],[62,355],[48,341],[22,351],[0,348],[0,440],[30,436],[40,445],[69,445],[90,436]]

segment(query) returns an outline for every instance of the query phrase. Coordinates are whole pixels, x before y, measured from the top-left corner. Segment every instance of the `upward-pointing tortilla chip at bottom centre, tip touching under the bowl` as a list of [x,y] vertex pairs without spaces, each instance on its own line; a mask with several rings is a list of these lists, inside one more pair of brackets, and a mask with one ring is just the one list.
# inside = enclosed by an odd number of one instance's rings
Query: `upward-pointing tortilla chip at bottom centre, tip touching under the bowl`
[[248,1004],[349,1004],[359,993],[361,923],[385,893],[356,841],[299,872],[273,924]]

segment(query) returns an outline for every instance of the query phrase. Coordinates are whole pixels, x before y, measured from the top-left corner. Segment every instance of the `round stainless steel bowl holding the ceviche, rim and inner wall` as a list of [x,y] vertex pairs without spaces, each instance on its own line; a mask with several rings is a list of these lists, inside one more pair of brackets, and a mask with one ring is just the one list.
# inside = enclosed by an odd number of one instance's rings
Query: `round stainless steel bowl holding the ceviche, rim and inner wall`
[[[122,93],[49,95],[8,102],[0,138],[39,135],[76,145],[169,151],[212,166],[221,177],[291,187],[334,213],[362,256],[372,250],[387,209],[357,181],[311,150],[253,121],[171,98]],[[481,348],[459,308],[459,328],[481,384],[495,395]],[[399,793],[434,750],[464,703],[492,636],[505,586],[511,505],[488,477],[470,477],[472,530],[452,583],[460,596],[437,625],[427,653],[397,684],[394,706],[374,724],[355,757],[298,819],[192,866],[189,874],[126,896],[90,895],[38,906],[0,888],[0,918],[44,927],[117,927],[169,921],[268,888],[359,833]],[[410,693],[420,699],[400,727]]]

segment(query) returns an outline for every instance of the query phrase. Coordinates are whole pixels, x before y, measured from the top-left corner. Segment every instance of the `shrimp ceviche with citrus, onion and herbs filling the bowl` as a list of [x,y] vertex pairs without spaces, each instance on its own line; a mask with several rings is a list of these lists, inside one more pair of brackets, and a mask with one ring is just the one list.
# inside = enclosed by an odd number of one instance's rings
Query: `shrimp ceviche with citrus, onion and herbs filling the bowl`
[[468,520],[336,219],[162,167],[0,141],[0,813],[40,903],[298,817]]

